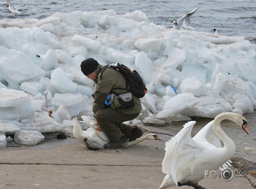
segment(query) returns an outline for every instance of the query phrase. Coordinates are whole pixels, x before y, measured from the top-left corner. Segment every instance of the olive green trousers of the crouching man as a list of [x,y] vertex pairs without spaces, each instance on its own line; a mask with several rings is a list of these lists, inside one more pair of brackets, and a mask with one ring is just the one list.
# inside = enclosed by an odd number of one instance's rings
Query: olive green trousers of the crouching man
[[123,134],[127,139],[130,138],[132,126],[123,122],[133,120],[139,115],[140,113],[128,115],[112,108],[105,108],[97,111],[94,116],[108,139],[111,142],[116,142]]

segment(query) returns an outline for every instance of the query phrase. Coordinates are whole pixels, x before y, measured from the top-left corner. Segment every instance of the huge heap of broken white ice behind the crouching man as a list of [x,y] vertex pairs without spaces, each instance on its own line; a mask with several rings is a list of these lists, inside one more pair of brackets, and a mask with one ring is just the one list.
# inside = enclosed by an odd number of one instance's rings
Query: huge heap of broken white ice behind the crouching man
[[80,70],[86,58],[140,73],[148,93],[130,124],[256,108],[256,45],[243,37],[166,29],[141,11],[75,11],[0,20],[0,133],[72,133],[74,116],[92,116],[94,83]]

